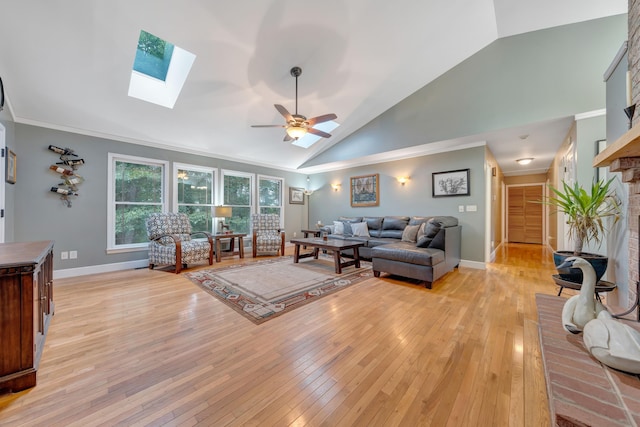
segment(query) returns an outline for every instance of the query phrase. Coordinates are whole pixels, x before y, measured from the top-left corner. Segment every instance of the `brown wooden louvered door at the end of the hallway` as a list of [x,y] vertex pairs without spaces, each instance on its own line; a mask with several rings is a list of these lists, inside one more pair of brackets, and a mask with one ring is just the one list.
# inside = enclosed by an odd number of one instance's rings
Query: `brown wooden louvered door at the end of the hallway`
[[509,242],[542,244],[543,205],[541,184],[507,188],[507,237]]

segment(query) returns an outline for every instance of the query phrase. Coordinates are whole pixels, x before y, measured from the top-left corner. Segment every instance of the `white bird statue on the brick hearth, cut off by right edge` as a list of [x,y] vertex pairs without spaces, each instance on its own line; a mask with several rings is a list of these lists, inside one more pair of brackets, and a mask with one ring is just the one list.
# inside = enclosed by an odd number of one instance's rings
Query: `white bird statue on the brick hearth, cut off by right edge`
[[582,339],[589,352],[603,364],[640,374],[640,332],[615,320],[608,311],[588,322]]

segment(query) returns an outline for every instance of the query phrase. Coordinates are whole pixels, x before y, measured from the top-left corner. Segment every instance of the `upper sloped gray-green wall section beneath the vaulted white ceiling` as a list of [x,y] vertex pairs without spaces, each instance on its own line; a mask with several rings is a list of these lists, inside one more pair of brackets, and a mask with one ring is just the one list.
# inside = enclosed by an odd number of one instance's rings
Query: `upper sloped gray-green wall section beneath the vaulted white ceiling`
[[626,15],[498,39],[304,166],[601,109],[626,39]]

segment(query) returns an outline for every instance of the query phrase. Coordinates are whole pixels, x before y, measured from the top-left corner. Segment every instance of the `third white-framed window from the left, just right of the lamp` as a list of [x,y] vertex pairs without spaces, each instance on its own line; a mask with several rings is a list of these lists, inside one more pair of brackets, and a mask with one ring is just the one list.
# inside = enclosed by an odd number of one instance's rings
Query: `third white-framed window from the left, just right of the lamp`
[[253,210],[253,174],[222,170],[222,204],[231,207],[226,223],[236,233],[249,234]]

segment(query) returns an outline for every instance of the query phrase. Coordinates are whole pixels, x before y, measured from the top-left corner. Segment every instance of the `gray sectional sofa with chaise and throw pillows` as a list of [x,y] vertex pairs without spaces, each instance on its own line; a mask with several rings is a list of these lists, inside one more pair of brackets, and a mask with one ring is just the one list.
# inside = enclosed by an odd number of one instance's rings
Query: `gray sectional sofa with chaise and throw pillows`
[[358,254],[371,260],[376,277],[390,273],[420,280],[431,289],[460,264],[461,229],[452,216],[384,216],[340,217],[322,231],[332,239],[363,242]]

